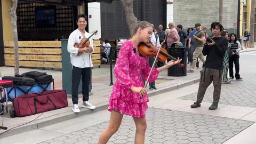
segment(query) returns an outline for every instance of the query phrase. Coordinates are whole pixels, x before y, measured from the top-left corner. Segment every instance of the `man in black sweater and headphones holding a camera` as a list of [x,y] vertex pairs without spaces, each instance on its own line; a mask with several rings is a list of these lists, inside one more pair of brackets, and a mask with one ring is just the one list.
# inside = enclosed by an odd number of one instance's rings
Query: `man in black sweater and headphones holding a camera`
[[215,21],[211,25],[212,38],[204,39],[203,55],[207,55],[205,67],[200,71],[200,83],[197,93],[197,100],[191,105],[191,108],[201,106],[207,87],[213,82],[213,102],[210,110],[218,108],[220,100],[220,91],[222,83],[223,55],[228,49],[228,39],[222,37],[220,32],[223,27],[220,22]]

